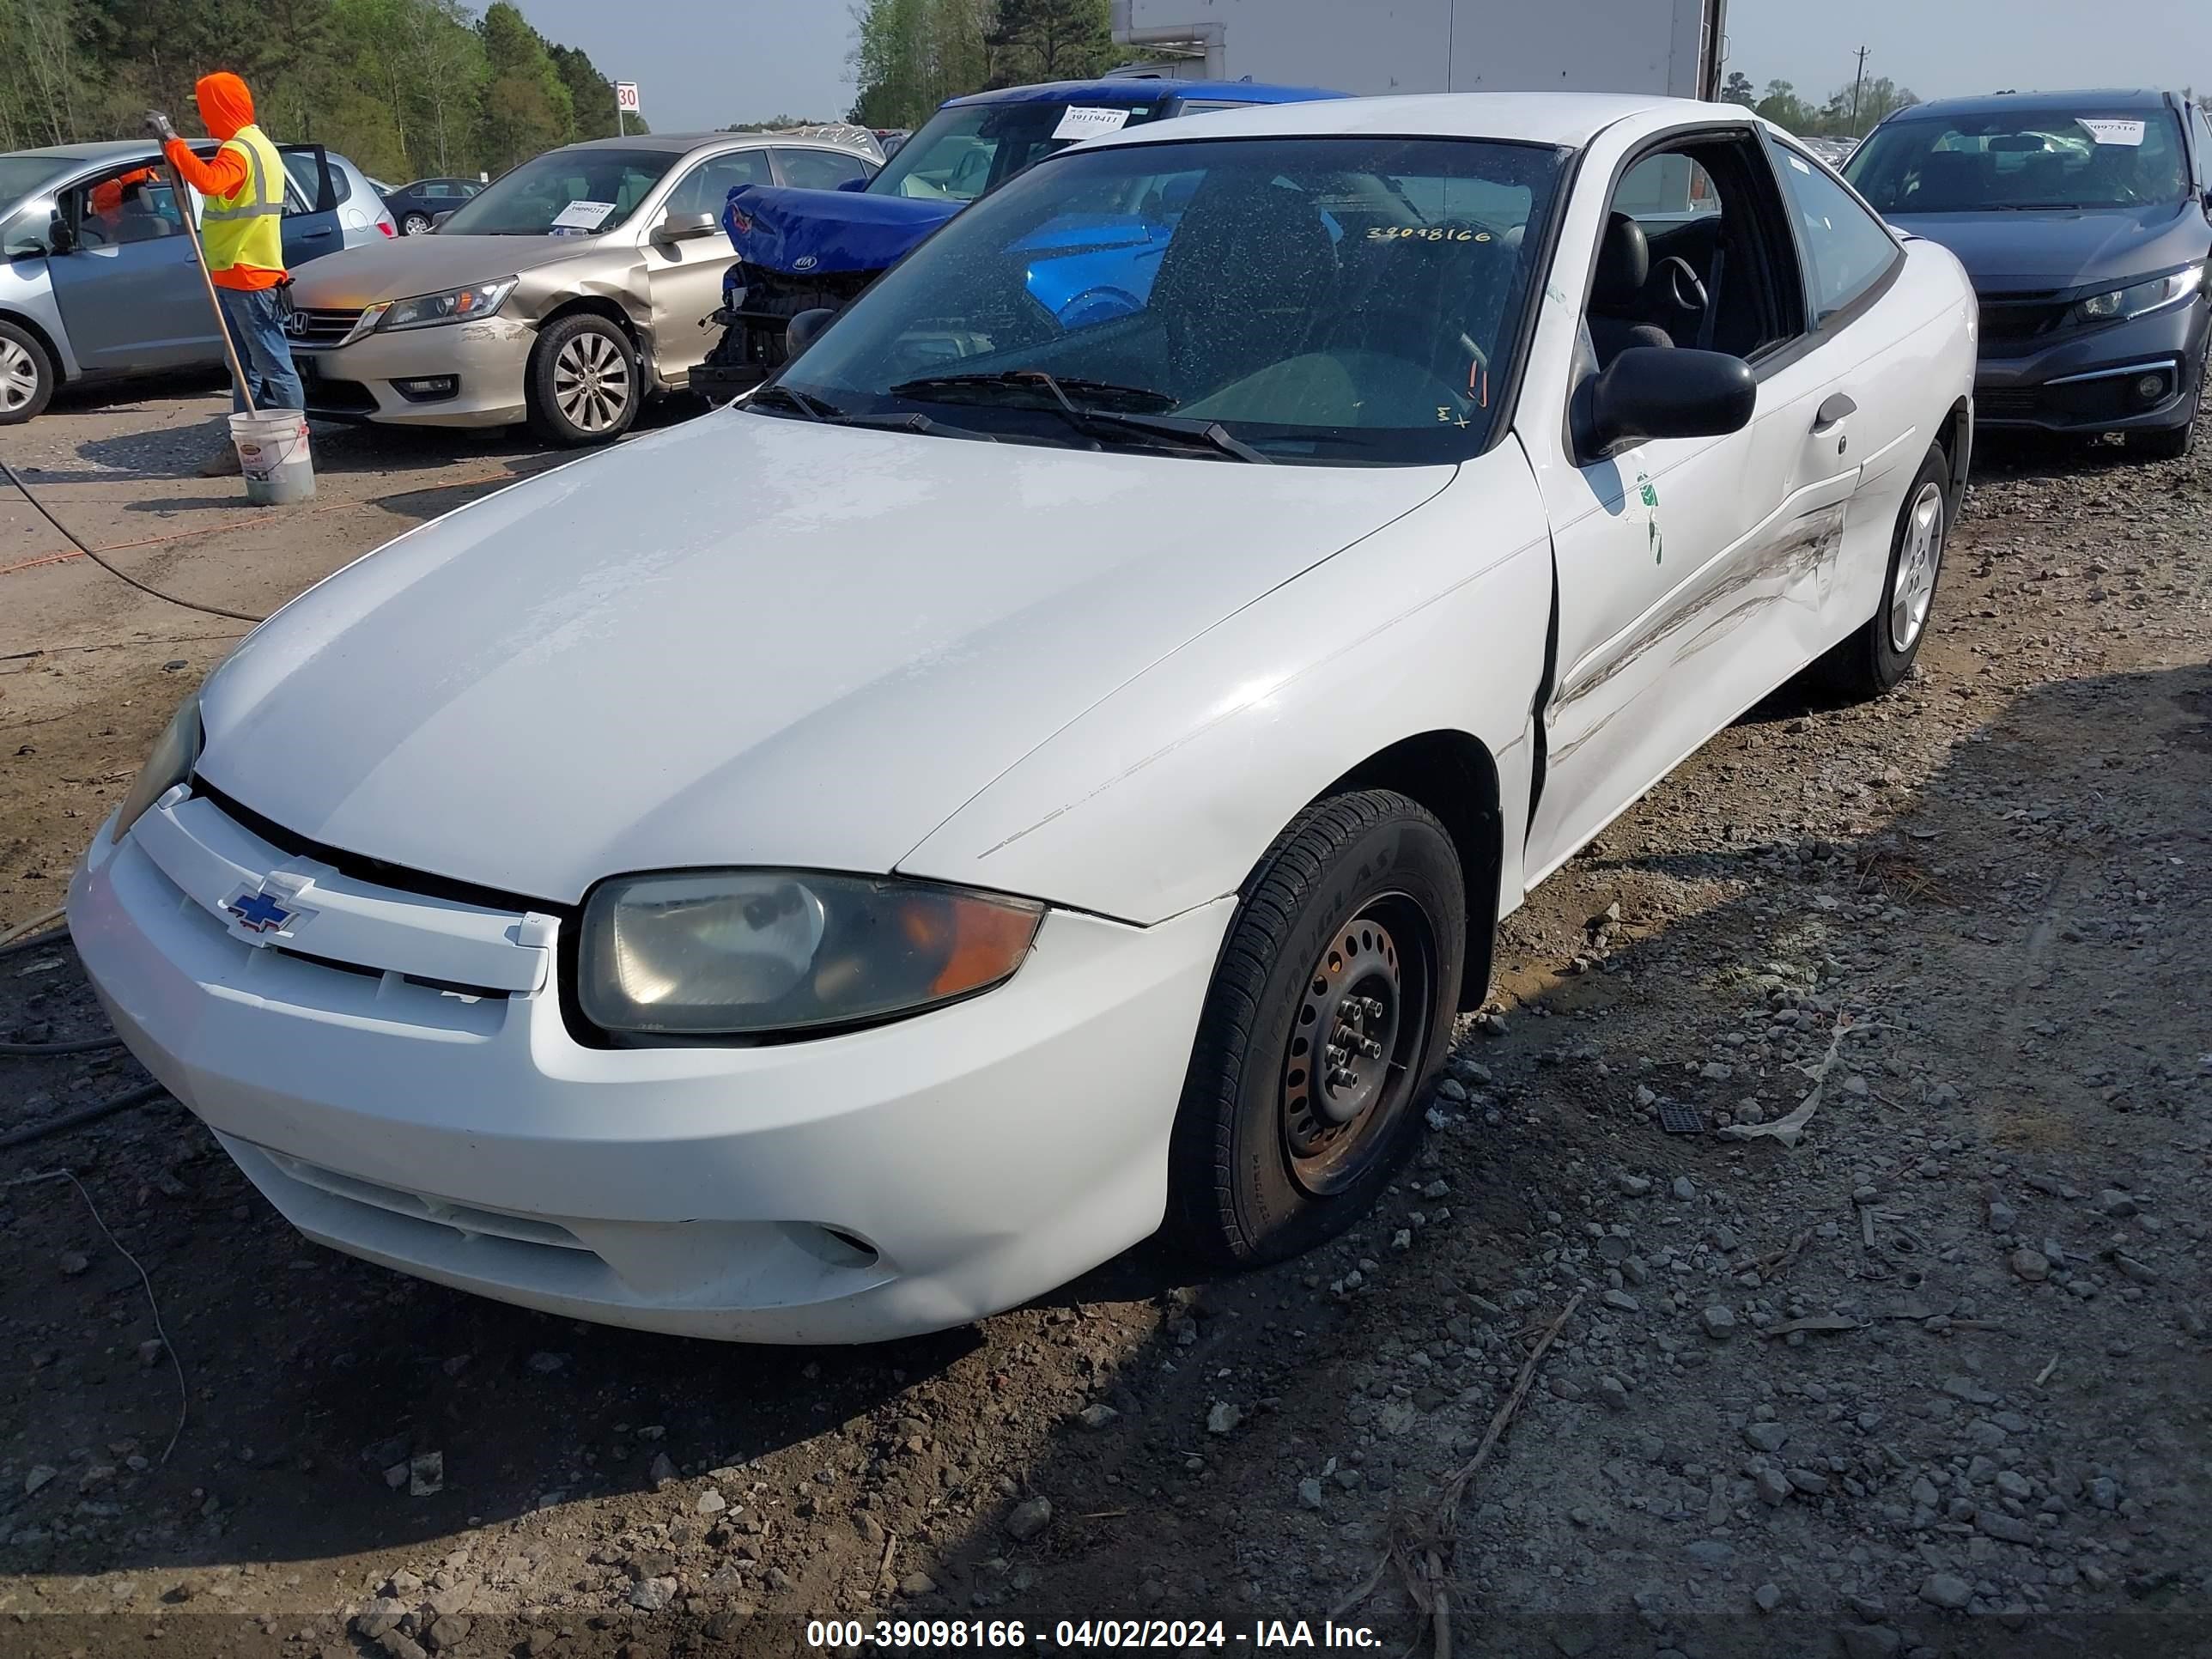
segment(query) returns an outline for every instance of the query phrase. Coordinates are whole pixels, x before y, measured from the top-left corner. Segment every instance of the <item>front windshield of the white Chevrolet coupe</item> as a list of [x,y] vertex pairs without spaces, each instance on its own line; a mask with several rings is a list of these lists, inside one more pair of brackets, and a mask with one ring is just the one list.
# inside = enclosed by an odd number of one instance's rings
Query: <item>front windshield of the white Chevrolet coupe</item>
[[[1498,418],[1559,166],[1480,139],[1079,150],[953,219],[792,363],[799,398],[752,407],[1210,456],[1228,436],[1276,462],[1462,460]],[[1172,442],[1192,434],[1212,449]]]

